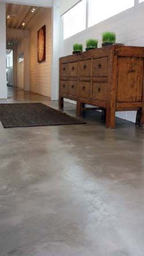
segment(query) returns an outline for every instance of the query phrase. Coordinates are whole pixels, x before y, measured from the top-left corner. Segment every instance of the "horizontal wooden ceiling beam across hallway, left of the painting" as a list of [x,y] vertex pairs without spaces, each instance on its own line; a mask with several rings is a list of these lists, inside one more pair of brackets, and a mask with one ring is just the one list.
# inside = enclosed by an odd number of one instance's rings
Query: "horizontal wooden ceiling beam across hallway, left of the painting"
[[6,29],[6,37],[7,38],[28,38],[29,31],[16,29],[16,28],[7,28]]

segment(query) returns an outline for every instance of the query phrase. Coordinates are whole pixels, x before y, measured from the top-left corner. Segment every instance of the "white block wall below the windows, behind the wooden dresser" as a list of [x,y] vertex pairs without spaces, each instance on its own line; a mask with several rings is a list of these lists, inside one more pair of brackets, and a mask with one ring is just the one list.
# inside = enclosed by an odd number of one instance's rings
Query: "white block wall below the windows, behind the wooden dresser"
[[[75,2],[74,0],[71,0]],[[70,1],[70,2],[71,2]],[[64,1],[63,1],[64,2]],[[65,5],[66,6],[66,5]],[[65,9],[65,6],[62,9]],[[125,43],[130,46],[144,46],[144,2],[120,13],[108,20],[105,20],[93,27],[71,36],[69,39],[62,40],[60,55],[69,55],[72,53],[73,44],[76,42],[83,43],[89,38],[99,40],[98,47],[101,47],[101,34],[104,31],[115,31],[116,41]],[[135,112],[118,112],[118,117],[135,122]]]

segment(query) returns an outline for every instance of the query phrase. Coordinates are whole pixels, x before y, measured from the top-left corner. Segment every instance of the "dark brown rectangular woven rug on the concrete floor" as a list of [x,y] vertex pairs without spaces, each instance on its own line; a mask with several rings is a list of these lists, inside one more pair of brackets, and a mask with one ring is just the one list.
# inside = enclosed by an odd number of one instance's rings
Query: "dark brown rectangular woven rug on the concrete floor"
[[0,104],[0,120],[4,128],[85,124],[42,103]]

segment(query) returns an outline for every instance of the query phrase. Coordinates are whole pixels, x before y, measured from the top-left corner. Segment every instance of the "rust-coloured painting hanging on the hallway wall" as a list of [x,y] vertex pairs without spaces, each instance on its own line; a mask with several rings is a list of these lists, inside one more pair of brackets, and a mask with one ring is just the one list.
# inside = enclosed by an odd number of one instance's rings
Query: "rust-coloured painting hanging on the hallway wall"
[[46,61],[46,25],[37,32],[37,61]]

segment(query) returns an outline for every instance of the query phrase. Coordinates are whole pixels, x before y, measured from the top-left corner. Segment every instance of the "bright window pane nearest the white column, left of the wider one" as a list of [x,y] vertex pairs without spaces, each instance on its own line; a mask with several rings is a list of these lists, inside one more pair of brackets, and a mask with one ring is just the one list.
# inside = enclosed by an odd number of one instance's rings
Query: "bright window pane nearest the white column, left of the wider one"
[[63,14],[63,39],[86,29],[86,0],[82,0]]

